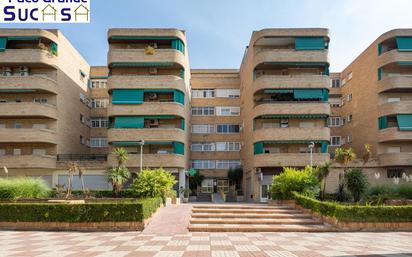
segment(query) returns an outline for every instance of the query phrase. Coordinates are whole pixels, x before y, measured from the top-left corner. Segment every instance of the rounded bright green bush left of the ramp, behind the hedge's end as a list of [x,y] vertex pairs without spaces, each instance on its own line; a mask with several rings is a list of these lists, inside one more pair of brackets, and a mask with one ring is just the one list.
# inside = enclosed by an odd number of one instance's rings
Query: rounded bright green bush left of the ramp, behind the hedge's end
[[140,197],[164,197],[176,182],[175,177],[162,168],[144,169],[137,174],[130,189]]

